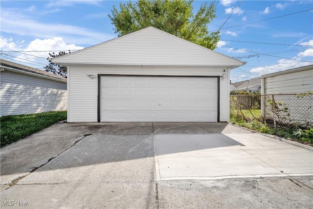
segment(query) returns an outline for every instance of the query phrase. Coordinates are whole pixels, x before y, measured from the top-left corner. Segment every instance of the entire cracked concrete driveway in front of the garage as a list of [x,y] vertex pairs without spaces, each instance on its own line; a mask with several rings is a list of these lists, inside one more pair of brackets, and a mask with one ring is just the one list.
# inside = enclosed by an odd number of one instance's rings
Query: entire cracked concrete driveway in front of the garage
[[313,148],[226,123],[57,123],[1,148],[1,208],[313,208]]

